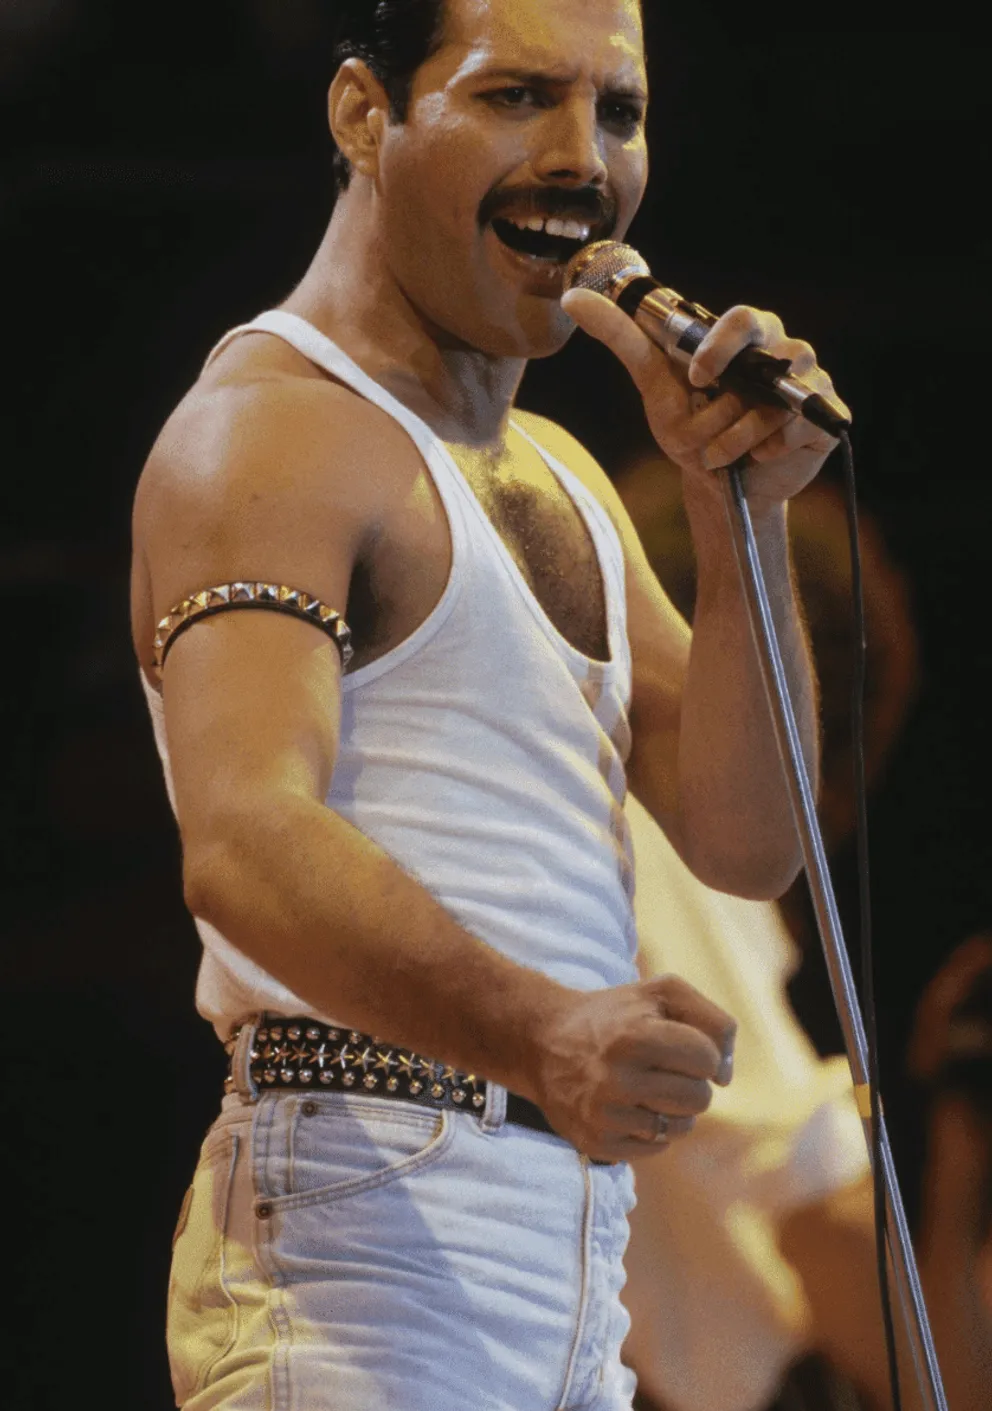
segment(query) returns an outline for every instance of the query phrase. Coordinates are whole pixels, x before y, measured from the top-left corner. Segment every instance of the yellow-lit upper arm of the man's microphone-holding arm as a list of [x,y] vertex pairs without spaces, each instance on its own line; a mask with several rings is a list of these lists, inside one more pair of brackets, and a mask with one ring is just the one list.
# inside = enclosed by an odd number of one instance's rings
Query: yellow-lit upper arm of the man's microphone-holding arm
[[634,672],[634,744],[627,776],[634,793],[679,848],[677,749],[682,686],[689,662],[689,626],[658,581],[631,516],[603,467],[574,436],[555,422],[528,416],[526,425],[595,495],[619,535],[627,570],[627,631]]

